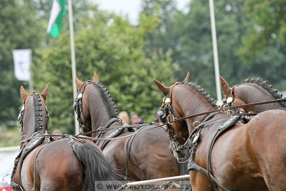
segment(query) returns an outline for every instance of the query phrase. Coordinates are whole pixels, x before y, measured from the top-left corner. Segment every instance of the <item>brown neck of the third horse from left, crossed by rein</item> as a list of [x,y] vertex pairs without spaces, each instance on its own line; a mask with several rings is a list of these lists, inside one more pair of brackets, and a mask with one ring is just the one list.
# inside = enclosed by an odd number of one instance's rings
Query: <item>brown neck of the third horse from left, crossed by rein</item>
[[[173,103],[174,102],[176,103],[176,107],[178,108],[177,112],[180,117],[186,117],[189,115],[195,115],[198,113],[203,113],[217,109],[213,107],[209,103],[209,101],[207,101],[206,98],[202,94],[197,92],[195,89],[193,89],[192,87],[188,87],[186,85],[184,87],[186,88],[185,90],[182,91],[178,89],[179,91],[176,92],[174,91],[176,90],[176,88],[174,87],[172,94],[174,98]],[[186,93],[186,91],[188,93]],[[193,128],[192,124],[194,121],[202,122],[205,117],[206,115],[200,115],[186,120],[189,132]]]

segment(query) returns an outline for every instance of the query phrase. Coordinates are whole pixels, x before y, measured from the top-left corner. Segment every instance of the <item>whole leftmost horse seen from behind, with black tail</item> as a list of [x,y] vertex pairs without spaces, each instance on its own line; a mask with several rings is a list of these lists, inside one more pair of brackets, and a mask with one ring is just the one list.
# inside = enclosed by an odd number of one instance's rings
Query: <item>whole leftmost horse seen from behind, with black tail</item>
[[[36,138],[47,133],[49,114],[46,95],[49,84],[41,94],[28,94],[21,86],[23,105],[18,117],[22,138],[14,168],[13,190],[101,190],[101,184],[113,184],[119,175],[92,141],[64,135],[54,141],[50,137]],[[98,183],[98,182],[97,182]]]

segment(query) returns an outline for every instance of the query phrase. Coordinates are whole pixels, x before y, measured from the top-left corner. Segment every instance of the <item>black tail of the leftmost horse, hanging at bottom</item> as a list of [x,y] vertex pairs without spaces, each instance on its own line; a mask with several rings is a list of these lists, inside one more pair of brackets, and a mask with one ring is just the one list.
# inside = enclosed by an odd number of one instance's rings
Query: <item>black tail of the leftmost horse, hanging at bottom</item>
[[101,186],[109,187],[108,190],[120,188],[118,180],[122,180],[123,176],[119,175],[99,149],[89,143],[80,144],[76,148],[76,155],[83,165],[83,190],[102,190]]

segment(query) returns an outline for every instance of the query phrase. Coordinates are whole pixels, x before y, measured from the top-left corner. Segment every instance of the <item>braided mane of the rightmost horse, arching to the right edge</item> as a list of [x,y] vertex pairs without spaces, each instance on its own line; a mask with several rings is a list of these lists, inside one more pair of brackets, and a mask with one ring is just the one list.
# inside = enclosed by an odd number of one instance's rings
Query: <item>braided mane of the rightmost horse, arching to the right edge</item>
[[[278,90],[277,89],[273,89],[272,85],[268,84],[267,80],[263,80],[262,78],[246,78],[246,80],[241,83],[242,84],[257,84],[260,87],[262,87],[263,89],[265,89],[266,91],[268,91],[268,93],[271,94],[271,96],[273,96],[274,99],[282,99],[282,94],[281,93],[277,93]],[[279,102],[279,104],[282,107],[285,107],[286,104],[284,102]]]

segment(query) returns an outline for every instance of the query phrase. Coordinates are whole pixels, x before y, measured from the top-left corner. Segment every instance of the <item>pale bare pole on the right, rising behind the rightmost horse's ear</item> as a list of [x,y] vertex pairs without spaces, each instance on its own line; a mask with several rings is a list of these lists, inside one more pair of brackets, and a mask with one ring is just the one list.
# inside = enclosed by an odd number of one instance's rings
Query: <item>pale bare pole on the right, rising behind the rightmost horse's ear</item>
[[220,88],[220,68],[218,64],[218,53],[217,53],[217,33],[215,29],[215,10],[214,10],[214,1],[209,0],[209,14],[211,18],[211,28],[212,28],[212,50],[214,53],[214,62],[215,62],[215,86],[217,91],[217,102],[222,104],[221,99],[221,88]]

